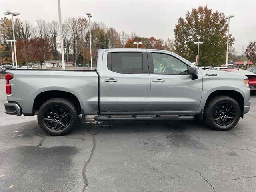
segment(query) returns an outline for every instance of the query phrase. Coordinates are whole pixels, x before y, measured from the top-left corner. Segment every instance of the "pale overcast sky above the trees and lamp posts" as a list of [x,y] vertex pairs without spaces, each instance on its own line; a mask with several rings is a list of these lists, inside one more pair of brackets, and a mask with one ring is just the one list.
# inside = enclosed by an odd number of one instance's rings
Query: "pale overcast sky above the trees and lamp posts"
[[[184,17],[187,10],[206,5],[213,11],[235,15],[230,19],[230,33],[236,39],[237,52],[256,40],[256,0],[61,0],[62,21],[87,17],[90,12],[92,20],[104,22],[118,32],[162,39],[174,38],[177,19]],[[57,0],[0,0],[0,13],[6,10],[18,11],[19,18],[34,24],[37,19],[58,21]]]

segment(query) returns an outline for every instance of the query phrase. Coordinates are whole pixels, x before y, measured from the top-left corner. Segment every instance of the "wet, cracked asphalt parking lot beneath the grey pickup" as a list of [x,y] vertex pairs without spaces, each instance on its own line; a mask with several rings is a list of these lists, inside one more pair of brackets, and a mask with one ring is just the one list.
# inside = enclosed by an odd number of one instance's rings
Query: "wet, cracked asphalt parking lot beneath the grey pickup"
[[256,95],[226,132],[200,121],[87,116],[58,137],[45,134],[36,116],[4,114],[5,100],[0,79],[0,192],[256,191]]

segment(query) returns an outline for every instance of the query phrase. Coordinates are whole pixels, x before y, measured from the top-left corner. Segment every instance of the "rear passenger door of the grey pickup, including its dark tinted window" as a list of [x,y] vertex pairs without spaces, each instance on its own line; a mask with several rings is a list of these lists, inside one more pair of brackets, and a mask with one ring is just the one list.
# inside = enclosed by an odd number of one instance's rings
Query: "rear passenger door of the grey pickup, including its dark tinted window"
[[147,112],[150,76],[147,53],[108,52],[102,66],[102,106],[108,112]]

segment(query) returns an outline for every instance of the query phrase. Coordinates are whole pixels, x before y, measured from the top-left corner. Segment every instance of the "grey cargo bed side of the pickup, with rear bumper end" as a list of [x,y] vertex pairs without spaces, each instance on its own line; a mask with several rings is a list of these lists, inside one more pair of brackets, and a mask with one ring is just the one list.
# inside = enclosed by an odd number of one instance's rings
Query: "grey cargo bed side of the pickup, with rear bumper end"
[[[24,115],[34,115],[33,101],[44,92],[69,92],[76,96],[86,114],[98,112],[98,74],[96,70],[12,69],[12,94],[8,102],[16,102]],[[86,101],[86,102],[84,102]]]

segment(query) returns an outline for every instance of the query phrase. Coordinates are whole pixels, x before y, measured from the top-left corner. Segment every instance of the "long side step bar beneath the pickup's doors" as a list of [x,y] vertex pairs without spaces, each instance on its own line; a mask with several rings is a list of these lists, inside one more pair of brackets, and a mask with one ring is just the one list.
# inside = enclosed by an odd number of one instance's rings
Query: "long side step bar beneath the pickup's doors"
[[155,115],[155,116],[95,116],[96,121],[157,121],[157,120],[194,120],[194,115]]

